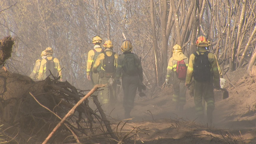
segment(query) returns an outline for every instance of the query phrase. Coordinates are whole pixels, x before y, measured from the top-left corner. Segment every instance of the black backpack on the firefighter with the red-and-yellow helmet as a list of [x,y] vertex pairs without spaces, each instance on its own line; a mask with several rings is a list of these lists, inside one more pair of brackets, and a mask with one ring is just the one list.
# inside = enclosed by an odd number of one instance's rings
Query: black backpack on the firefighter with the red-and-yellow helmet
[[202,55],[199,52],[199,55],[195,52],[195,64],[193,65],[194,68],[194,79],[199,82],[207,82],[210,81],[211,76],[211,64],[208,60],[209,52],[206,51]]

